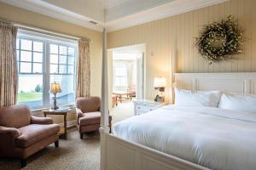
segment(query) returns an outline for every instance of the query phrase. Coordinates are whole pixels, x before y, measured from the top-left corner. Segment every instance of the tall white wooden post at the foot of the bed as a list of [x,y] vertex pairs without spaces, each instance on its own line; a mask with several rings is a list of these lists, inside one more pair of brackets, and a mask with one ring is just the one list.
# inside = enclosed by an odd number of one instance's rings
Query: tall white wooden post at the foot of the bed
[[108,127],[108,59],[107,33],[103,29],[102,39],[102,102],[101,102],[101,170],[107,169],[107,134]]

